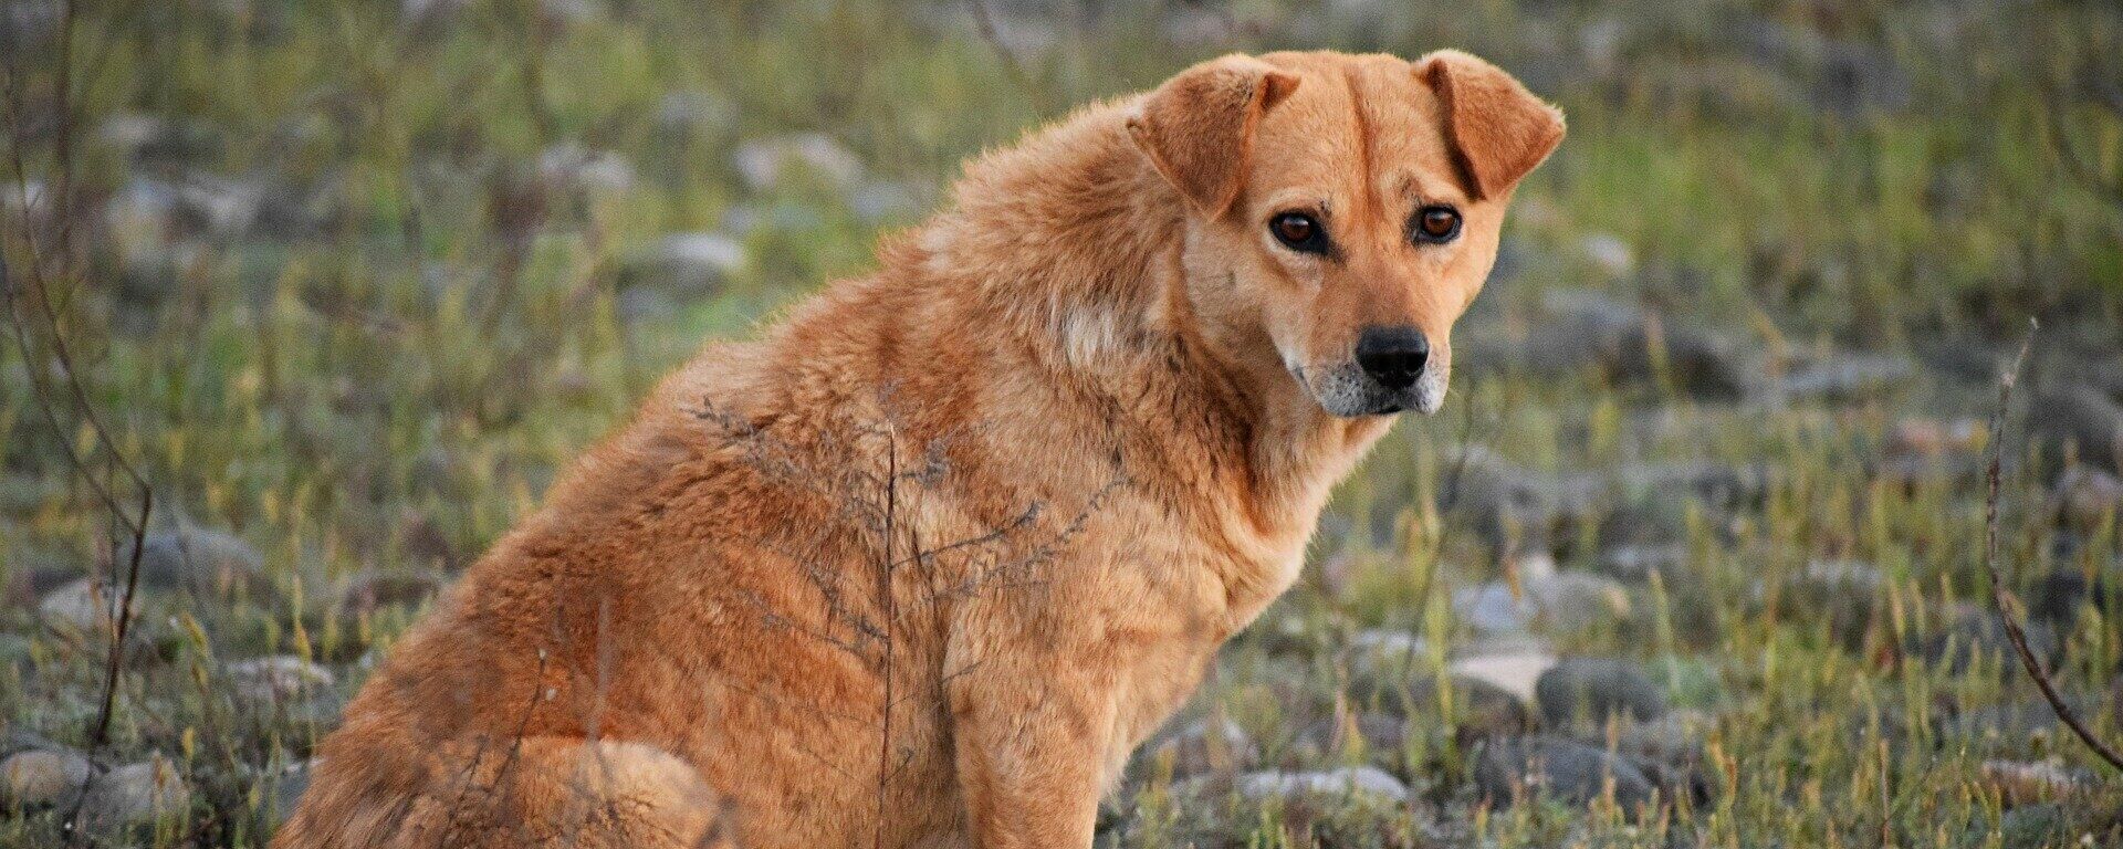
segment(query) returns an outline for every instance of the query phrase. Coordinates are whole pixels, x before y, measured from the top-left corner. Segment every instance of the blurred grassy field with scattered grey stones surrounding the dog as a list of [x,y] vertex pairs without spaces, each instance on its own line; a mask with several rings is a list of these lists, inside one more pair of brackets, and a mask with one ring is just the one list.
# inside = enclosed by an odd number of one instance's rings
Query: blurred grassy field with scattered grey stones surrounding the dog
[[2123,841],[1981,562],[1998,444],[2032,643],[2123,741],[2112,2],[11,0],[0,845],[261,845],[664,369],[964,157],[1282,47],[1463,47],[1571,134],[1446,410],[1102,845]]

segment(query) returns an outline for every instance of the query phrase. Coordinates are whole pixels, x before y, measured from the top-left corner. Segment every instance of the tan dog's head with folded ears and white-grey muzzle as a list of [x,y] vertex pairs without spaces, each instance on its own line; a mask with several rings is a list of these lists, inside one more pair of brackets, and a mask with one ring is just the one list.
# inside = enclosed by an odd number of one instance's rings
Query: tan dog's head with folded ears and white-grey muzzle
[[1452,323],[1563,112],[1459,51],[1270,53],[1180,72],[1127,129],[1187,200],[1187,291],[1219,357],[1376,416],[1444,403]]

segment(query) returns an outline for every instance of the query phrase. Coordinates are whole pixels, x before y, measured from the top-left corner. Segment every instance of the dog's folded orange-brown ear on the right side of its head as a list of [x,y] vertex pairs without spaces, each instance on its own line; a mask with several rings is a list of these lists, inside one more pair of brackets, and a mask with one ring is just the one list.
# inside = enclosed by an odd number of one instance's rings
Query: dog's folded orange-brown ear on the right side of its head
[[1437,93],[1461,168],[1475,197],[1499,197],[1563,144],[1563,110],[1516,76],[1461,51],[1416,59],[1416,76]]

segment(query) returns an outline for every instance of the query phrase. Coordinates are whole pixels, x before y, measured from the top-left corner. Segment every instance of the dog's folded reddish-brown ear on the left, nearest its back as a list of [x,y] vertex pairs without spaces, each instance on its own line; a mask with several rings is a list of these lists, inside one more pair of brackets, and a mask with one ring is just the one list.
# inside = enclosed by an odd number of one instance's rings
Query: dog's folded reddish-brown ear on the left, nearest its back
[[1187,202],[1216,219],[1231,208],[1253,161],[1261,115],[1297,91],[1297,76],[1250,55],[1225,55],[1159,85],[1127,119],[1127,134]]

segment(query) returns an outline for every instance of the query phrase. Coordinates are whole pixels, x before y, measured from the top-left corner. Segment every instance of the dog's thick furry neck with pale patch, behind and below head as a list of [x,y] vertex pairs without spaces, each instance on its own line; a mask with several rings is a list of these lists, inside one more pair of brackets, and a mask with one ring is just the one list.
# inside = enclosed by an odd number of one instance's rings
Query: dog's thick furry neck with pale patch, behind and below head
[[[1023,348],[1064,382],[1159,422],[1142,433],[1193,441],[1146,463],[1212,456],[1161,471],[1193,490],[1180,497],[1233,492],[1219,524],[1248,556],[1287,558],[1388,420],[1329,416],[1278,365],[1216,350],[1187,295],[1185,202],[1127,140],[1125,108],[1089,108],[968,168],[915,250],[981,287],[1011,318],[998,325],[1038,335]],[[987,265],[966,267],[974,257]]]

